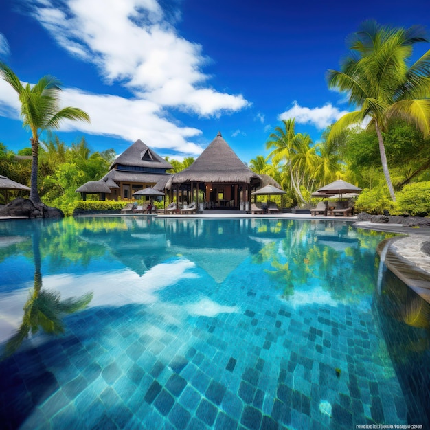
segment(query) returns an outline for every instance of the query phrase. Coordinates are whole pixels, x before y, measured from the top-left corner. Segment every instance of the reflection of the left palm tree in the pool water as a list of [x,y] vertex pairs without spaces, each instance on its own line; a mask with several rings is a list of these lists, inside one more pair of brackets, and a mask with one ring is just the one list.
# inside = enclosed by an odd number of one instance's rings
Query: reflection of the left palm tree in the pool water
[[17,332],[5,344],[2,359],[13,354],[30,335],[35,335],[40,328],[48,335],[60,335],[64,332],[62,316],[75,313],[87,307],[93,293],[87,293],[78,299],[60,300],[60,294],[52,290],[42,289],[41,273],[41,231],[36,228],[32,234],[32,250],[34,258],[34,287],[30,289],[24,305],[22,323]]

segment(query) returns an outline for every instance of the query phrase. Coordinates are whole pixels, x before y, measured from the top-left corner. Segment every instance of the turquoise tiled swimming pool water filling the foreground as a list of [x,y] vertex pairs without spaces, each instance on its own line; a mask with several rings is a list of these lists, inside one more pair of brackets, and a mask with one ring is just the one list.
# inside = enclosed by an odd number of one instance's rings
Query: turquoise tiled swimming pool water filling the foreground
[[323,220],[0,223],[2,428],[426,424],[428,309],[386,271],[376,288],[385,237]]

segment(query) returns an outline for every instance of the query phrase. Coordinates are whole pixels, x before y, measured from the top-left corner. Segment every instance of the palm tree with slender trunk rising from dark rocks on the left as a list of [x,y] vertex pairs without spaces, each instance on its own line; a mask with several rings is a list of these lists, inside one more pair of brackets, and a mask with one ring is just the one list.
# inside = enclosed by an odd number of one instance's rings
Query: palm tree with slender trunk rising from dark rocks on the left
[[12,69],[0,62],[0,77],[18,93],[23,126],[32,133],[30,200],[39,207],[42,203],[37,190],[39,136],[45,130],[58,129],[62,120],[89,122],[89,115],[75,107],[60,109],[60,81],[53,76],[43,76],[34,86],[23,86]]

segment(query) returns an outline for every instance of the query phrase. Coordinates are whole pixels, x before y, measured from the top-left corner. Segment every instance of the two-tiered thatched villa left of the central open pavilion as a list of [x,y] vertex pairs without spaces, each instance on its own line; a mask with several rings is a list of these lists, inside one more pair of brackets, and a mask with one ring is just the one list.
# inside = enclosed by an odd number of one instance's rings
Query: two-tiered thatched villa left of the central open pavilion
[[100,194],[100,199],[133,199],[133,193],[143,188],[154,187],[157,183],[161,190],[169,179],[166,170],[172,165],[161,158],[154,150],[138,139],[119,155],[100,181],[84,183],[76,192]]

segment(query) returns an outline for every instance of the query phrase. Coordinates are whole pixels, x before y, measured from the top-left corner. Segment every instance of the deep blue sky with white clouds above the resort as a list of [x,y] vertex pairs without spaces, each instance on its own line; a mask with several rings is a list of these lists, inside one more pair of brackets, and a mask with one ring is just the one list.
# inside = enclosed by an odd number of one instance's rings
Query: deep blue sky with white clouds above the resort
[[[429,30],[429,12],[429,0],[0,0],[0,60],[23,82],[56,76],[63,104],[89,113],[63,124],[66,144],[119,154],[142,139],[182,159],[220,131],[249,162],[283,118],[317,142],[351,110],[325,74],[362,21]],[[29,138],[1,81],[0,142]]]

